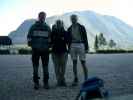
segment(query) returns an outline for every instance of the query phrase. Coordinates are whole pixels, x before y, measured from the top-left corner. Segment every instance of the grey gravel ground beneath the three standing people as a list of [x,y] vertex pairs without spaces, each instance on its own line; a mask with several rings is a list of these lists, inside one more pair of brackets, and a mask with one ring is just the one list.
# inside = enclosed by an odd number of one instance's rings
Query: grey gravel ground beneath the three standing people
[[[87,55],[89,77],[98,76],[112,96],[133,94],[133,54]],[[80,84],[83,82],[82,67],[78,63]],[[41,65],[39,67],[42,78]],[[69,56],[66,69],[68,87],[56,87],[53,63],[50,59],[50,90],[33,89],[30,55],[0,55],[0,100],[74,100],[79,91],[70,87],[73,80],[72,62]],[[42,80],[40,80],[42,85]],[[126,99],[125,99],[126,100]]]

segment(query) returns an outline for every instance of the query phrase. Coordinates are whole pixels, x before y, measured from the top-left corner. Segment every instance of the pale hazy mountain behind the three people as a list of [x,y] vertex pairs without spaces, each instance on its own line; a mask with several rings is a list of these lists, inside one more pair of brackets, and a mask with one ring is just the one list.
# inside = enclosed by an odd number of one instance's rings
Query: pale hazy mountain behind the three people
[[[133,27],[113,16],[100,15],[92,11],[81,11],[52,16],[47,18],[46,22],[52,26],[57,19],[61,19],[65,29],[67,29],[71,25],[70,15],[72,14],[78,15],[79,23],[85,25],[91,50],[94,48],[95,35],[100,33],[103,33],[107,41],[113,39],[118,48],[130,49],[133,47]],[[35,19],[25,20],[15,31],[9,34],[14,44],[26,43],[28,30],[35,21]]]

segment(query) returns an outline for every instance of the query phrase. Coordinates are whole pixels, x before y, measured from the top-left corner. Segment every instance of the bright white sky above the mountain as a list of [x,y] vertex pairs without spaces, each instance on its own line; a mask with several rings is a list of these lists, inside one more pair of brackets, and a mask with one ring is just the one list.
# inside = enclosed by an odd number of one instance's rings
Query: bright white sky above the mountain
[[133,0],[0,0],[0,35],[8,35],[26,19],[91,10],[115,16],[133,26]]

